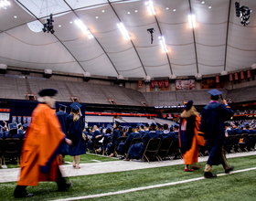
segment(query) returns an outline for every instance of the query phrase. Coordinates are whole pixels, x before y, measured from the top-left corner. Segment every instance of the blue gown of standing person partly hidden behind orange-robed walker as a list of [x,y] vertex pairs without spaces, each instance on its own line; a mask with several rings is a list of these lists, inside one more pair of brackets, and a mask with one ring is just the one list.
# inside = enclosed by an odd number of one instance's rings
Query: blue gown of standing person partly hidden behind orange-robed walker
[[[65,138],[67,138],[69,114],[66,113],[65,111],[58,111],[58,112],[56,112],[56,115],[59,119],[61,130],[62,130],[62,132],[65,133],[65,135],[66,135]],[[69,145],[67,143],[62,143],[61,153],[69,154]]]

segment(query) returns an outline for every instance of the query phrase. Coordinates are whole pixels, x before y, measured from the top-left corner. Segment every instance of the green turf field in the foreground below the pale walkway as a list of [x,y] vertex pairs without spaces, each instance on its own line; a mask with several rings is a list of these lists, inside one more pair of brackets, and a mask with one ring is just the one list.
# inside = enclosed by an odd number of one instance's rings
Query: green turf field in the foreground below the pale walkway
[[[232,158],[228,162],[235,166],[235,170],[256,167],[256,155]],[[200,163],[200,165],[205,164],[205,162]],[[16,200],[54,200],[96,195],[141,186],[183,181],[202,177],[204,173],[203,168],[194,173],[185,173],[183,168],[184,165],[173,165],[119,173],[75,176],[69,178],[74,183],[74,186],[67,192],[56,191],[56,183],[40,183],[36,187],[27,187],[27,191],[34,194],[33,197]],[[212,172],[221,174],[224,171],[219,165],[214,166]],[[14,182],[0,184],[0,200],[13,200],[15,186],[16,183]],[[214,179],[203,179],[187,184],[171,185],[90,200],[256,200],[255,187],[256,171],[253,170],[234,175],[219,176]]]

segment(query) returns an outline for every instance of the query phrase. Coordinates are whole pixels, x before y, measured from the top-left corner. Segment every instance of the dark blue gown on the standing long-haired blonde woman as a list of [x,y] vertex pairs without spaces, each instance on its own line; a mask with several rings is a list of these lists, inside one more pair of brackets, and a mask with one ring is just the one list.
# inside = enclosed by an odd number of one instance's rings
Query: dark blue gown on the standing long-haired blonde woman
[[69,155],[75,156],[86,153],[85,141],[82,138],[83,121],[80,120],[73,122],[73,114],[68,116],[68,137],[72,141],[72,145],[69,145]]

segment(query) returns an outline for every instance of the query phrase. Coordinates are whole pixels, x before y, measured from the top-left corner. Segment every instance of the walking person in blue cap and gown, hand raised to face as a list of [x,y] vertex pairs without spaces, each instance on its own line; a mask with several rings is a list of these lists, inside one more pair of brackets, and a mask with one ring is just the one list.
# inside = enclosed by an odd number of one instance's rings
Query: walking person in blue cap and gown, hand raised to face
[[225,141],[225,127],[224,122],[229,120],[234,114],[229,108],[226,100],[222,100],[223,104],[219,104],[219,90],[209,90],[210,102],[202,111],[201,125],[199,133],[208,137],[208,151],[209,157],[205,168],[204,176],[206,178],[216,177],[211,173],[212,165],[222,164],[225,169],[225,173],[228,174],[233,167],[227,163],[227,159],[224,153],[224,141]]

